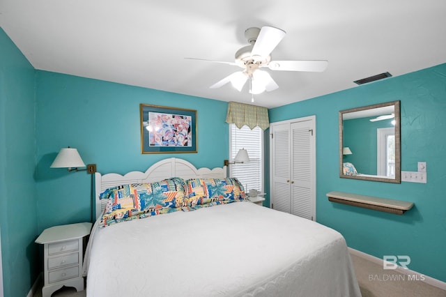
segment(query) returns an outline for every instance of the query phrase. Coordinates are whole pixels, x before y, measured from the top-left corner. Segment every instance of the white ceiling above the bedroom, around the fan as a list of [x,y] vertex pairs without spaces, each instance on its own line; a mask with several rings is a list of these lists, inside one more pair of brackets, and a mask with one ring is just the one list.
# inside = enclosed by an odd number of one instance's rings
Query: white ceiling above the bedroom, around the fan
[[240,70],[245,29],[286,36],[276,60],[325,59],[323,73],[270,71],[277,107],[446,62],[444,0],[1,0],[0,25],[36,69],[215,100],[251,103],[247,85],[209,86]]

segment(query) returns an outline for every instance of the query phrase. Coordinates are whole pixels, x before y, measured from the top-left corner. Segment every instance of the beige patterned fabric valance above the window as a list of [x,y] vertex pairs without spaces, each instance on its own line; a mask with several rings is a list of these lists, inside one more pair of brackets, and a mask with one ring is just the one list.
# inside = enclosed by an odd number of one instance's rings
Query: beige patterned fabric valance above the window
[[259,126],[262,130],[270,127],[268,109],[256,105],[229,102],[226,123],[236,124],[237,128],[247,125],[250,129]]

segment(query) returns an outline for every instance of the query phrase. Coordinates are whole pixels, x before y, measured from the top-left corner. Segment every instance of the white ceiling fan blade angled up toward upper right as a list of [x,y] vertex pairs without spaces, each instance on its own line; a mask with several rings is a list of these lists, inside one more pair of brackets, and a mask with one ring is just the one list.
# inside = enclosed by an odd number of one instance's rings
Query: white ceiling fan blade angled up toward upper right
[[263,26],[260,30],[259,36],[257,36],[256,43],[252,47],[251,55],[254,57],[261,56],[266,58],[270,55],[272,50],[277,47],[285,37],[285,31],[282,29],[274,28],[272,26]]

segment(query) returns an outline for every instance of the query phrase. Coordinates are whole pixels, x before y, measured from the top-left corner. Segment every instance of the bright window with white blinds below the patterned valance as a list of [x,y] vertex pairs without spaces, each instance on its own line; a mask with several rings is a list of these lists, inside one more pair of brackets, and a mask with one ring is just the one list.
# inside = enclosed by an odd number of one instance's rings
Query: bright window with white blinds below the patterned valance
[[229,124],[230,162],[241,148],[247,150],[249,162],[230,164],[229,176],[238,178],[245,192],[249,189],[263,192],[263,130],[259,127],[251,130],[247,125],[238,129],[236,125]]

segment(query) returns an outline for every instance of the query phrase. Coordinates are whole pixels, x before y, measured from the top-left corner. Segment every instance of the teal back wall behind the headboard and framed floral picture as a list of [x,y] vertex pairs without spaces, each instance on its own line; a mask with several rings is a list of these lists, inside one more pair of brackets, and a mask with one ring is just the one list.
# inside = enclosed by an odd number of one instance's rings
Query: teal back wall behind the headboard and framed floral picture
[[[145,171],[164,158],[222,167],[229,153],[227,102],[36,71],[38,229],[90,220],[91,176],[50,169],[59,149],[77,148],[98,172]],[[198,153],[141,154],[139,104],[197,110]]]

